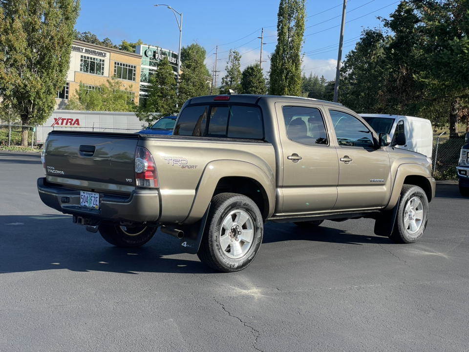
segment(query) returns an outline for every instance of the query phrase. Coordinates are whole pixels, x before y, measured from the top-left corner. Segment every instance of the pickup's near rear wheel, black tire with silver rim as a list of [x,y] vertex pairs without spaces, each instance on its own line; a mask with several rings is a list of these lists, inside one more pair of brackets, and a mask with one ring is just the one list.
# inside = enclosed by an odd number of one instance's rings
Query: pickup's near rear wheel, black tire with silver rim
[[264,222],[256,203],[236,193],[212,198],[197,256],[214,270],[234,272],[252,263],[264,234]]

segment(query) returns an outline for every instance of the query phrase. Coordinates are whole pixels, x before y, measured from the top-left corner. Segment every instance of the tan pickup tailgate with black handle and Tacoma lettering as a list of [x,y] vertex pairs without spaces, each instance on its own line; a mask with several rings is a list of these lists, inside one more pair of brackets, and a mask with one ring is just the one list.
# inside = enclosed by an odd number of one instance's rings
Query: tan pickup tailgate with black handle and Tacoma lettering
[[[103,185],[103,190],[135,187],[135,149],[138,134],[105,132],[50,132],[45,172],[55,183]],[[116,187],[117,186],[117,187]]]

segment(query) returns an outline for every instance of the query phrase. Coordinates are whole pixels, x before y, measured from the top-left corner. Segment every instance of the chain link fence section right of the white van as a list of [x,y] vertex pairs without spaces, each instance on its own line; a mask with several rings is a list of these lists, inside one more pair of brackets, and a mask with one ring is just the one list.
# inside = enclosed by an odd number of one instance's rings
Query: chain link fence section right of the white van
[[461,147],[465,144],[464,138],[433,137],[433,177],[437,180],[457,179],[456,166]]

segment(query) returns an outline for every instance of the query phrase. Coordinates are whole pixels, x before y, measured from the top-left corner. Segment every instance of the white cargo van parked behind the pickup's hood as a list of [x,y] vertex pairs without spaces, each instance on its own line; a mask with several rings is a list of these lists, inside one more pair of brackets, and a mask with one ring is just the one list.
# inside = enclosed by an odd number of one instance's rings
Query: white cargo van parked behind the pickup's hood
[[391,140],[398,133],[405,134],[405,145],[397,148],[424,154],[431,158],[433,149],[433,129],[430,120],[404,115],[360,114],[378,133],[387,133]]

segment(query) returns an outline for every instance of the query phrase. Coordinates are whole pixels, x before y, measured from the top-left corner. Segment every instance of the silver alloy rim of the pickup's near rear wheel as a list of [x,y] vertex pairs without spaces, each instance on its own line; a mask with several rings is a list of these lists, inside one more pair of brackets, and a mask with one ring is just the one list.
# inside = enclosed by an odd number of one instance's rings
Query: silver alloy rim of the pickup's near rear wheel
[[233,210],[223,220],[219,236],[221,249],[226,256],[239,259],[253,244],[254,221],[244,210]]

